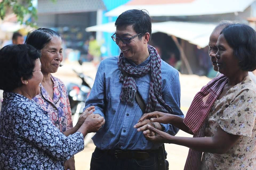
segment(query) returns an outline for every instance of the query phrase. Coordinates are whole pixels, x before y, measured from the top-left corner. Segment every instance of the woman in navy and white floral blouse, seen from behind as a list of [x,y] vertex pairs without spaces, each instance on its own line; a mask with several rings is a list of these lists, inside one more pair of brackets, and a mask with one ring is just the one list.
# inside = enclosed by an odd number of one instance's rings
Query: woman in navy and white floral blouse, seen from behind
[[[0,89],[4,90],[0,112],[0,169],[58,169],[84,148],[87,133],[104,123],[83,113],[78,130],[66,137],[53,126],[47,112],[32,98],[40,93],[43,79],[41,54],[30,45],[7,45],[0,50]],[[85,121],[83,121],[85,120]]]

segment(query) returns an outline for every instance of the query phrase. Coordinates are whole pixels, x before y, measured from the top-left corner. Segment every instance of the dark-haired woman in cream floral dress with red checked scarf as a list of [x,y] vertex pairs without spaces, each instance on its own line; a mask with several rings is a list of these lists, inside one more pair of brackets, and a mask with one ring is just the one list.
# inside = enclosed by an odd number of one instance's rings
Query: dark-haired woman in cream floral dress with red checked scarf
[[[256,32],[245,24],[231,24],[221,31],[217,48],[218,52],[215,57],[217,58],[218,71],[223,75],[211,82],[216,80],[225,81],[223,81],[223,88],[216,96],[216,100],[213,101],[205,117],[203,131],[205,137],[174,137],[151,126],[148,127],[149,130],[145,130],[143,133],[148,140],[154,142],[174,143],[195,151],[204,152],[202,160],[199,157],[201,164],[199,164],[200,168],[197,169],[255,170],[256,87],[248,76],[248,71],[256,69]],[[197,95],[199,96],[199,94]],[[209,96],[201,98],[203,103],[208,101],[207,97],[209,98]],[[197,99],[200,99],[200,97]],[[200,107],[203,107],[203,104],[195,105],[194,108]],[[197,115],[198,113],[193,114],[194,117]],[[187,116],[189,115],[187,114]],[[193,129],[191,127],[198,125],[202,118],[198,117],[198,122],[191,126],[186,124],[186,121],[183,122],[183,120],[175,117],[175,115],[160,112],[145,114],[141,120],[150,117],[151,121],[173,123],[184,131]],[[178,125],[178,122],[180,125]],[[188,127],[182,128],[184,125],[190,126],[189,130]],[[137,126],[139,127],[139,124]],[[150,136],[152,132],[155,135]],[[192,160],[197,161],[196,159]],[[191,165],[194,165],[193,161]],[[191,166],[185,167],[185,169],[196,168]]]

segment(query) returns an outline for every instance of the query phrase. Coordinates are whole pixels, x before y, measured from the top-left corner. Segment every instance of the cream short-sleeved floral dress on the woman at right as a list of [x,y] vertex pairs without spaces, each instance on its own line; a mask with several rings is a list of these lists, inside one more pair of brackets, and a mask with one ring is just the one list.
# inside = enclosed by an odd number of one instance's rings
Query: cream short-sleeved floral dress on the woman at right
[[216,100],[206,121],[206,136],[213,137],[220,126],[224,131],[241,135],[225,154],[205,152],[202,170],[256,169],[256,87],[249,76]]

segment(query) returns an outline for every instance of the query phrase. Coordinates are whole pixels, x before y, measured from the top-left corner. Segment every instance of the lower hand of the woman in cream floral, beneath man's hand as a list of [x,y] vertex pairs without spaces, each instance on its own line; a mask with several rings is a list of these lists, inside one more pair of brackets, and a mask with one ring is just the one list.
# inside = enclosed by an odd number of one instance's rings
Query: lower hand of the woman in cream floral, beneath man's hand
[[[154,143],[168,143],[168,137],[171,137],[168,133],[157,130],[150,125],[147,125],[147,129],[147,131],[143,131],[143,134],[148,141],[152,141]],[[154,135],[152,135],[152,133],[154,133]]]

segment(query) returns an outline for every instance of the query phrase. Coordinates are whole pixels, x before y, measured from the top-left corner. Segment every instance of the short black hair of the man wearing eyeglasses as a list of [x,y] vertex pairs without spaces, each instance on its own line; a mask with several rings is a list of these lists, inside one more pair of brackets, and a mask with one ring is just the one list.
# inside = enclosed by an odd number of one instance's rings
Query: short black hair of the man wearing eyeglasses
[[129,25],[133,25],[133,29],[137,34],[142,32],[142,34],[139,35],[139,39],[141,39],[146,32],[150,35],[149,40],[151,39],[151,18],[147,10],[127,10],[120,14],[115,21],[117,28],[127,27]]

